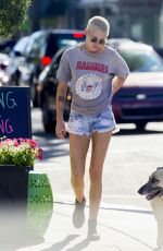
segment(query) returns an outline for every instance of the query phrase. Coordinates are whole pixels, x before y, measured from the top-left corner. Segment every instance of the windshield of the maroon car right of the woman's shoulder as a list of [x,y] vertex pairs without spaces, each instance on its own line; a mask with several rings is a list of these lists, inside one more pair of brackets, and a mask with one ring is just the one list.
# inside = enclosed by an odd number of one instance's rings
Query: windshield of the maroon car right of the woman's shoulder
[[130,72],[163,71],[163,61],[153,50],[121,50]]

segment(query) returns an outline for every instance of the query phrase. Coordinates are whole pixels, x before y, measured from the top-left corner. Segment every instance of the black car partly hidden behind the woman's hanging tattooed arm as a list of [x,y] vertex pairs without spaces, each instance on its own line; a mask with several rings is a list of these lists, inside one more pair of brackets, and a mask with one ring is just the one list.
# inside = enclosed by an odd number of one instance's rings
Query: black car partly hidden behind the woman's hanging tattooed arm
[[[47,65],[45,70],[40,73],[38,79],[38,104],[42,110],[42,122],[46,132],[54,132],[55,130],[55,96],[57,96],[57,88],[58,88],[58,80],[57,80],[57,70],[59,68],[60,59],[63,51],[68,48],[63,47],[61,48],[55,56],[50,65]],[[70,116],[70,108],[71,108],[71,86],[68,85],[66,101],[64,107],[64,120],[66,121]]]

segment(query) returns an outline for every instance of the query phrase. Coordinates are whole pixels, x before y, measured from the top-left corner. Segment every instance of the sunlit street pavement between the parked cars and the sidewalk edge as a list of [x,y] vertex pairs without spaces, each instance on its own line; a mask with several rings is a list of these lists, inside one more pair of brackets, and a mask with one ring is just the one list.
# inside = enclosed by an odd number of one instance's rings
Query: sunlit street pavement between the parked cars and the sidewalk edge
[[[40,110],[33,110],[34,139],[43,148],[43,160],[37,163],[37,171],[46,171],[51,180],[54,200],[74,201],[70,186],[68,139],[58,140],[53,134],[43,133]],[[103,204],[120,204],[149,208],[149,202],[137,193],[149,175],[163,165],[163,123],[149,123],[143,133],[138,134],[133,124],[121,125],[120,133],[112,138],[104,163]],[[91,147],[91,146],[90,146]],[[86,196],[89,177],[87,158]]]

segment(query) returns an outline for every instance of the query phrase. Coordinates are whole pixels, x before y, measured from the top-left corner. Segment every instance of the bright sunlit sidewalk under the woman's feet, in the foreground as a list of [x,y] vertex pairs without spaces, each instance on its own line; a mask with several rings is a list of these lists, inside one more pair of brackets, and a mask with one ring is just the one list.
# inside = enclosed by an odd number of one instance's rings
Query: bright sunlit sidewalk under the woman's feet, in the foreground
[[76,229],[72,224],[74,204],[55,202],[50,225],[41,243],[12,248],[0,246],[0,251],[151,251],[155,249],[156,223],[150,211],[120,205],[101,205],[98,220],[100,240],[87,239],[86,223]]

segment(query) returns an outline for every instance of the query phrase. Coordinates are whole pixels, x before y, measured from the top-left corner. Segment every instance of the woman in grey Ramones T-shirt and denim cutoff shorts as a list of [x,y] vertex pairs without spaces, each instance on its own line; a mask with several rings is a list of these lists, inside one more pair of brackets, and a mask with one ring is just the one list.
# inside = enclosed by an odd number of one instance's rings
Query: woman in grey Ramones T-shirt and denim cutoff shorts
[[109,22],[104,17],[90,19],[85,28],[85,43],[64,51],[57,74],[59,86],[55,133],[59,139],[64,139],[66,132],[63,109],[68,82],[73,93],[67,131],[71,182],[76,198],[73,214],[75,227],[82,227],[85,220],[84,176],[91,141],[88,220],[90,238],[99,238],[97,217],[102,193],[102,169],[112,132],[116,128],[111,108],[112,96],[123,86],[129,73],[122,57],[105,46],[109,29]]

